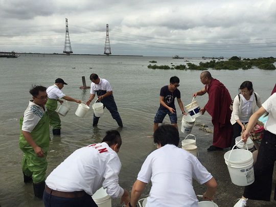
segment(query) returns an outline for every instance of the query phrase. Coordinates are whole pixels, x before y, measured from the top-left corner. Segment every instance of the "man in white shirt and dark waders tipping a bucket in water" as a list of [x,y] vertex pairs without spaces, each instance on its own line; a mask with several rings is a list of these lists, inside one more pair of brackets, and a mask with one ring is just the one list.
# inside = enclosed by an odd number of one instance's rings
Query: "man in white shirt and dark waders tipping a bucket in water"
[[[97,93],[98,101],[101,101],[104,107],[106,107],[109,110],[112,118],[116,120],[117,124],[120,127],[123,127],[122,119],[120,117],[117,105],[112,95],[113,92],[110,83],[103,78],[99,78],[99,76],[95,73],[90,75],[90,80],[92,81],[92,83],[90,87],[90,97],[86,102],[87,106],[89,106],[91,101],[93,101],[93,99],[95,98],[95,94]],[[100,117],[96,117],[94,114],[93,126],[97,126],[99,119]]]

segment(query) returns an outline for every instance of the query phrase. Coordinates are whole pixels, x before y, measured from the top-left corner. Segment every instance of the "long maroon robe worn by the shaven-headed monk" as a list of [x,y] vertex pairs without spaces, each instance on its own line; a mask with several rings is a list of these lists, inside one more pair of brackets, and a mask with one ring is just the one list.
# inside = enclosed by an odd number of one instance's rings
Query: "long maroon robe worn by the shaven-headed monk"
[[204,108],[211,115],[214,125],[213,146],[230,147],[233,132],[230,122],[232,111],[229,108],[232,103],[231,96],[217,79],[212,79],[210,85],[205,85],[205,90],[209,100]]

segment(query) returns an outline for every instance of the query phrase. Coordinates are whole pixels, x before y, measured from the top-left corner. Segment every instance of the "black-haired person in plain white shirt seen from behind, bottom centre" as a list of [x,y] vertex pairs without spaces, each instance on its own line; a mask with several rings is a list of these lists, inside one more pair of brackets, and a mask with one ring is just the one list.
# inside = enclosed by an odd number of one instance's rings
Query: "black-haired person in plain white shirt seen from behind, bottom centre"
[[136,206],[147,183],[152,182],[146,207],[196,207],[198,200],[193,189],[193,178],[207,187],[203,198],[211,200],[217,182],[191,153],[178,148],[178,130],[172,125],[159,126],[153,134],[157,150],[146,158],[134,182],[130,202]]

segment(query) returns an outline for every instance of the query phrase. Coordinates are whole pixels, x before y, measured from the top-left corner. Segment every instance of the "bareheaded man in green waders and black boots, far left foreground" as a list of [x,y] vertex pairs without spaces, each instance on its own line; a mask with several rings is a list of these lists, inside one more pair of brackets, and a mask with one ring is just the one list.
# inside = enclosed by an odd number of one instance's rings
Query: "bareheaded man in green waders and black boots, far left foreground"
[[19,148],[24,152],[21,166],[24,182],[33,180],[34,195],[42,198],[50,144],[49,114],[44,107],[48,95],[41,85],[32,87],[30,94],[33,100],[20,118]]

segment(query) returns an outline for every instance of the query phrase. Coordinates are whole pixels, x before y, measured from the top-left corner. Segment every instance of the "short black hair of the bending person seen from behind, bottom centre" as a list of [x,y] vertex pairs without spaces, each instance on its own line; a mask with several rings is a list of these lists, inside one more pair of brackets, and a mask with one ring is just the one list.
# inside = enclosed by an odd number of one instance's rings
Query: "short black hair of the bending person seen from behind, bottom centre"
[[178,130],[170,124],[159,126],[153,133],[153,142],[155,144],[160,143],[162,147],[167,144],[172,144],[177,147],[179,143]]

